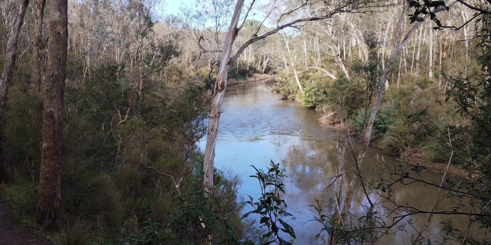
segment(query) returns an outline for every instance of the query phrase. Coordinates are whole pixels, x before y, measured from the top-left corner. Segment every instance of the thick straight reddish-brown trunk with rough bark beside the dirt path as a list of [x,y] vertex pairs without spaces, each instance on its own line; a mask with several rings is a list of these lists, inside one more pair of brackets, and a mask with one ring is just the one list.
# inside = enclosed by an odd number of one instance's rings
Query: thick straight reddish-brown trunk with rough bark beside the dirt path
[[36,221],[57,230],[60,222],[63,90],[68,49],[67,0],[50,0],[47,76],[43,83],[41,174]]

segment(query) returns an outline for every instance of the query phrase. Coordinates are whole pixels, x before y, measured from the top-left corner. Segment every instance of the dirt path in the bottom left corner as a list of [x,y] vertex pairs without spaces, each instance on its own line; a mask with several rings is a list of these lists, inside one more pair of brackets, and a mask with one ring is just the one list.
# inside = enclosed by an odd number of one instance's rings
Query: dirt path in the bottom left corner
[[4,203],[0,200],[0,245],[48,245],[31,228],[26,227],[5,214]]

